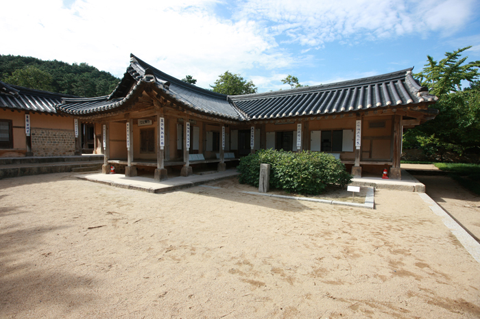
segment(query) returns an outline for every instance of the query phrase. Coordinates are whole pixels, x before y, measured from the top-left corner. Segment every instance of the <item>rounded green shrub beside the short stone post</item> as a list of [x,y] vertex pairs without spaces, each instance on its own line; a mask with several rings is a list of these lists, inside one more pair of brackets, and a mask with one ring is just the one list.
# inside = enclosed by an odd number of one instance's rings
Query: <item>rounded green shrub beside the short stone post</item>
[[258,187],[260,164],[271,165],[271,188],[298,194],[320,194],[327,185],[346,187],[352,180],[344,164],[327,153],[292,153],[268,149],[240,159],[240,183]]

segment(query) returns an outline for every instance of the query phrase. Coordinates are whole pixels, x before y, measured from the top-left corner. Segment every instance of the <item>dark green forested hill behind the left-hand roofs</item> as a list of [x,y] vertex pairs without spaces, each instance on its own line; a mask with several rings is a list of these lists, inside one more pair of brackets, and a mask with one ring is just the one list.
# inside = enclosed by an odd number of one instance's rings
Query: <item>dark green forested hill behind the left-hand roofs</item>
[[120,79],[86,63],[0,55],[0,81],[78,97],[99,97],[110,94]]

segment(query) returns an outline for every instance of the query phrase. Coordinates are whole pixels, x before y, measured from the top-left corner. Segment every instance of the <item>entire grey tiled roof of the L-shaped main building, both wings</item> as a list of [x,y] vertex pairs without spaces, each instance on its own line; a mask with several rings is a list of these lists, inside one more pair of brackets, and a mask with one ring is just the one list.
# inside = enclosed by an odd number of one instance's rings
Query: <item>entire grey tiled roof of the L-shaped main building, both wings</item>
[[182,107],[233,120],[356,112],[436,101],[437,97],[413,79],[411,70],[321,86],[227,96],[187,84],[130,55],[130,66],[112,94],[63,99],[58,110],[75,115],[112,112],[135,103],[146,87]]

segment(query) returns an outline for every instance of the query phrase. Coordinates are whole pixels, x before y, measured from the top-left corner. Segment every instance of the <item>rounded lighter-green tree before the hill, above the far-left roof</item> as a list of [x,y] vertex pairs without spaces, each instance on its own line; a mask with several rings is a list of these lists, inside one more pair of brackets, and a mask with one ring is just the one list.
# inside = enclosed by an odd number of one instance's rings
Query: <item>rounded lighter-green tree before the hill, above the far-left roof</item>
[[19,68],[5,79],[9,84],[46,91],[51,90],[51,80],[49,73],[33,65]]

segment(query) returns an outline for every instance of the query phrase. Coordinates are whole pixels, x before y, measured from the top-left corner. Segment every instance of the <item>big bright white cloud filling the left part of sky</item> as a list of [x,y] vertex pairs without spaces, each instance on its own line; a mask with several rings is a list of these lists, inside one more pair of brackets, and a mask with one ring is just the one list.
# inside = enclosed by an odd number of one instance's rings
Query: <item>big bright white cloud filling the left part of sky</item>
[[254,21],[215,16],[217,1],[9,1],[0,12],[2,53],[88,62],[121,76],[130,53],[202,87],[230,70],[283,68],[295,61]]

